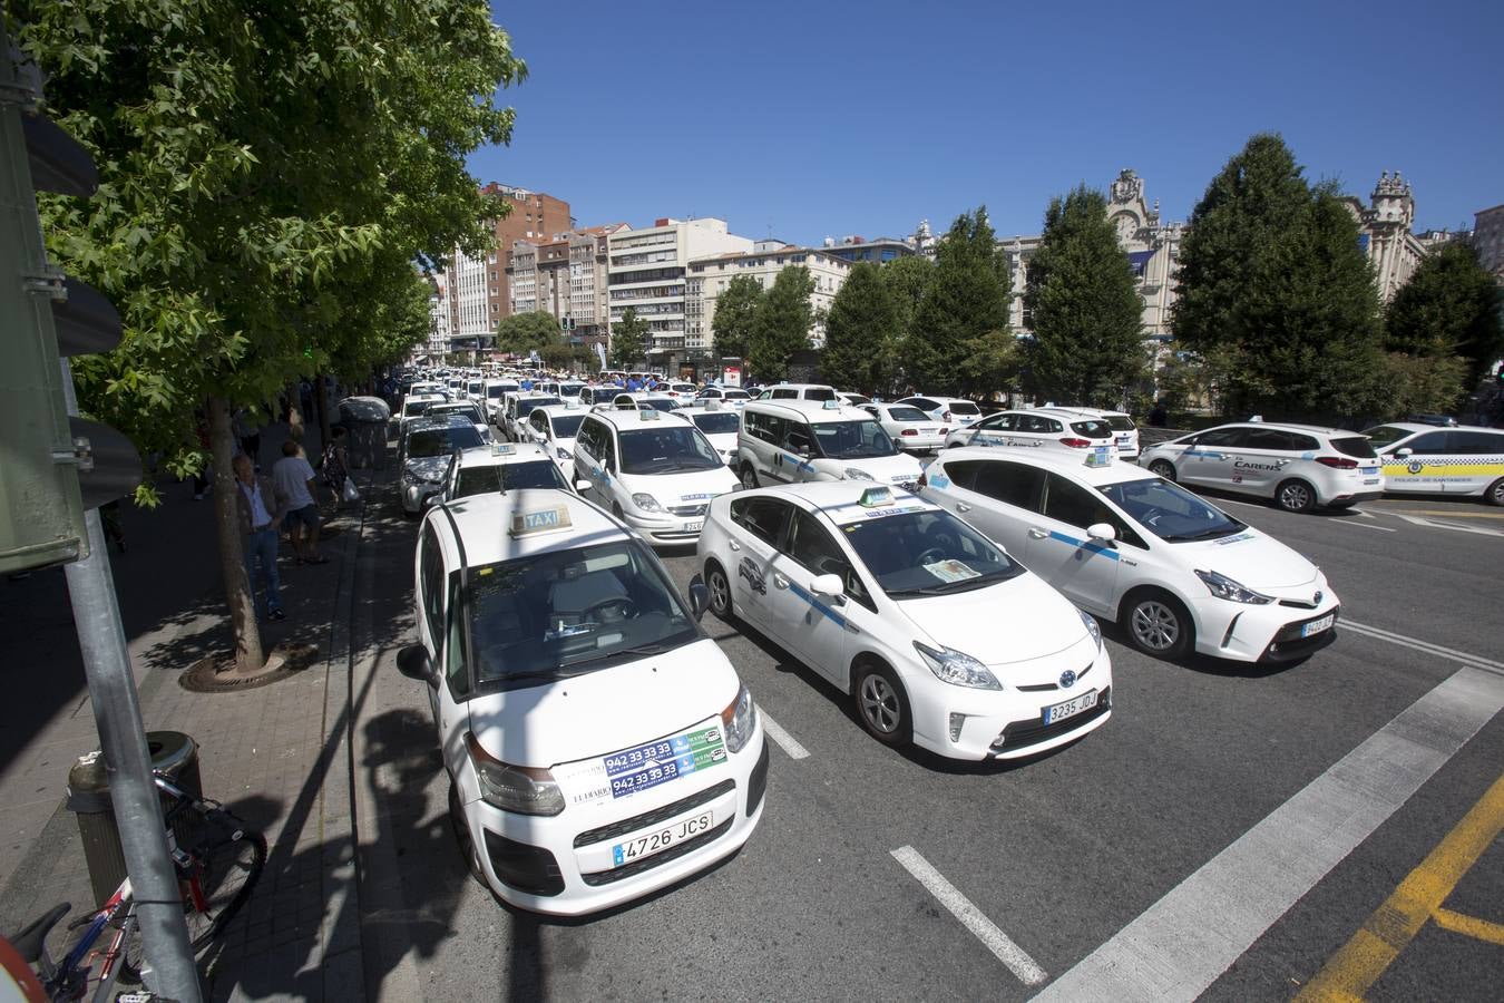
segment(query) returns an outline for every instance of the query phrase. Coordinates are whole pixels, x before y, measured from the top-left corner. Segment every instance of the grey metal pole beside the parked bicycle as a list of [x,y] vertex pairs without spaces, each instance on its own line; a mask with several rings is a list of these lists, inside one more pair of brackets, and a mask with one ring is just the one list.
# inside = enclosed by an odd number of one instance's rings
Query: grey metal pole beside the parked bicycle
[[[63,391],[68,414],[78,414],[74,377],[63,365]],[[99,729],[110,803],[120,829],[120,850],[131,875],[135,914],[141,926],[141,947],[147,967],[147,988],[177,1003],[200,1003],[199,968],[188,944],[182,890],[167,848],[167,821],[152,782],[152,756],[146,749],[141,701],[131,675],[131,654],[125,647],[120,605],[110,574],[99,510],[84,513],[89,529],[89,556],[66,565],[68,594],[74,601],[74,626],[84,656],[89,701]]]

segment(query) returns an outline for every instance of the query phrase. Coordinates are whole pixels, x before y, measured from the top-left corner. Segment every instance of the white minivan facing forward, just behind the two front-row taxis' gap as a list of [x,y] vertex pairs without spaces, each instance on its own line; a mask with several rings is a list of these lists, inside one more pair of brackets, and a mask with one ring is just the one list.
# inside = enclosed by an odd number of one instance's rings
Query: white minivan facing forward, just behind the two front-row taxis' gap
[[653,408],[597,406],[575,435],[581,493],[654,543],[693,543],[737,477],[704,433]]

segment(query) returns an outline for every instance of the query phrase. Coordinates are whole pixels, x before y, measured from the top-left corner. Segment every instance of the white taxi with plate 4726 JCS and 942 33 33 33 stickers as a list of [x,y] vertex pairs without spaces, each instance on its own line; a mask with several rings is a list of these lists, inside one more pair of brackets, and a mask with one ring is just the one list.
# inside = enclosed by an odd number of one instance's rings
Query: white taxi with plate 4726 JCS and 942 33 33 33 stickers
[[752,695],[653,552],[559,490],[435,505],[414,558],[450,814],[505,902],[593,913],[699,872],[763,815]]

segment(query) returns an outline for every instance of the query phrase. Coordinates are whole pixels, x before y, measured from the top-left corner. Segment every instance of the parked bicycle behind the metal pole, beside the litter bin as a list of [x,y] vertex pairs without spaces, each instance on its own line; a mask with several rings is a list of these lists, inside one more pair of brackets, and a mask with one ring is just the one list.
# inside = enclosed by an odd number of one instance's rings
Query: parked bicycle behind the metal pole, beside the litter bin
[[[153,773],[152,779],[168,800],[164,812],[167,845],[177,871],[188,941],[197,955],[250,898],[266,866],[266,838],[247,827],[220,801],[190,794],[161,773]],[[191,841],[190,850],[180,848],[182,838]],[[66,902],[56,905],[9,938],[21,958],[36,968],[47,998],[53,1003],[84,998],[105,1003],[113,998],[117,982],[138,983],[140,923],[131,878],[126,877],[102,907],[69,925],[69,929],[84,926],[84,932],[63,959],[54,962],[47,953],[47,935],[69,908],[72,907]],[[107,929],[113,929],[110,943],[102,952],[96,952],[95,944]],[[101,964],[93,976],[96,956]],[[92,994],[90,980],[95,982]],[[128,997],[122,994],[120,998]],[[144,1001],[150,995],[129,994],[129,998]]]

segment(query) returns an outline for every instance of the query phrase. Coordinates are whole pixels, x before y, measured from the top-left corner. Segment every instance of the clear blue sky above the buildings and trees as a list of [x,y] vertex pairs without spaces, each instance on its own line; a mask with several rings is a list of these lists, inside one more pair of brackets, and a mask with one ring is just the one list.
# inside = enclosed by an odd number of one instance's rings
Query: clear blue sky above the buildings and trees
[[985,203],[1000,236],[1123,167],[1184,220],[1247,138],[1367,198],[1414,186],[1417,229],[1504,203],[1504,3],[496,5],[529,77],[480,180],[547,191],[581,226],[720,217],[734,233],[935,230]]

